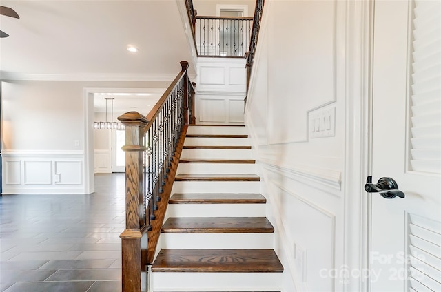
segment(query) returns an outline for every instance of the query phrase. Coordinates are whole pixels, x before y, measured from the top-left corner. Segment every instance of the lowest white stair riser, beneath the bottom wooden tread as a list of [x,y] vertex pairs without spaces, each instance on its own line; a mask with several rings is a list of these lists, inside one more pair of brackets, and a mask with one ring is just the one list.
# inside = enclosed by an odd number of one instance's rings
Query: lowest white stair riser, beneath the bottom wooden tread
[[152,291],[281,291],[283,273],[152,273]]

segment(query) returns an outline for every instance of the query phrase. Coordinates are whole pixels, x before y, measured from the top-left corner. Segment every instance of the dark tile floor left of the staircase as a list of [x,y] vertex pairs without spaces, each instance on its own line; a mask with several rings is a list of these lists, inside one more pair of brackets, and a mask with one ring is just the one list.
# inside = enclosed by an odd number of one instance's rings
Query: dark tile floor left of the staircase
[[0,291],[121,291],[124,174],[95,193],[0,196]]

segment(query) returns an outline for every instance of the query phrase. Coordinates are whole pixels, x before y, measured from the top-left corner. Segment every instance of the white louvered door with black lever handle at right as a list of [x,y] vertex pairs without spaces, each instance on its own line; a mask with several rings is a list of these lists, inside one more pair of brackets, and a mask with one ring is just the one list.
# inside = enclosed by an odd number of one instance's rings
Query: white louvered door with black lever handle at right
[[[441,1],[376,0],[371,291],[441,291]],[[384,193],[385,194],[385,193]]]

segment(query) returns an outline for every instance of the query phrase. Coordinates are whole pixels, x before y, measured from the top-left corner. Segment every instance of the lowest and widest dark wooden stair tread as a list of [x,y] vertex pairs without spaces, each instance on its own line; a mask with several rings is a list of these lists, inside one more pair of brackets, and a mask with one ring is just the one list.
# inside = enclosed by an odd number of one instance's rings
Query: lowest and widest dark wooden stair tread
[[272,249],[161,249],[152,272],[281,273]]

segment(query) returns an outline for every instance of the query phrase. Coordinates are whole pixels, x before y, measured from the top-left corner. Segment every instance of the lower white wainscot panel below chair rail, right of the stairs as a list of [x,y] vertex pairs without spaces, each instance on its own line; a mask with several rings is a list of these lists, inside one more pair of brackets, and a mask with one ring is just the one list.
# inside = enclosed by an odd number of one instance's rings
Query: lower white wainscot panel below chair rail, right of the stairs
[[[274,212],[285,214],[276,216],[276,230],[287,253],[289,268],[295,271],[298,291],[334,291],[335,277],[327,273],[336,265],[336,216],[274,180],[268,184],[273,193]],[[294,209],[288,207],[287,201]],[[302,220],[309,223],[306,225]],[[320,261],[314,260],[317,258]]]

